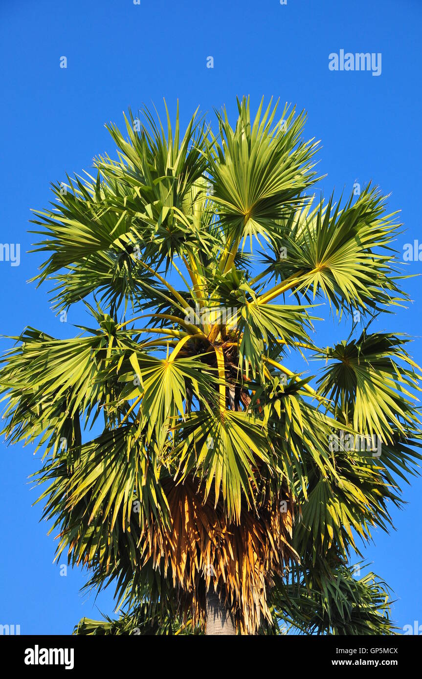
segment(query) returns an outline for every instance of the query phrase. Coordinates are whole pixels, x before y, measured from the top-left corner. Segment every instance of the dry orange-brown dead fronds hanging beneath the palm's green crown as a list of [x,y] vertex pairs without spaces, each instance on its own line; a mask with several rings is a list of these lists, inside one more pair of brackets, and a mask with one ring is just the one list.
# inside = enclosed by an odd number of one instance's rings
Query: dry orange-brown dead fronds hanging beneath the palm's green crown
[[271,623],[267,605],[272,577],[283,576],[297,555],[292,538],[292,502],[285,495],[264,507],[260,515],[244,511],[240,524],[228,523],[222,503],[203,496],[190,480],[167,482],[171,526],[150,521],[141,535],[143,564],[173,579],[179,592],[178,614],[205,619],[205,593],[218,593],[232,611],[243,634],[256,634],[263,621]]

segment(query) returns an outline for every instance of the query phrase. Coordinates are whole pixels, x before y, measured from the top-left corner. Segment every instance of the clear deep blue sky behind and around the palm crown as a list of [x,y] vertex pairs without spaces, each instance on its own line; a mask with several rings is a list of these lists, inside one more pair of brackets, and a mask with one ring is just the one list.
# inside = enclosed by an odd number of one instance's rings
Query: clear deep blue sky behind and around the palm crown
[[[0,262],[1,334],[25,325],[75,334],[80,312],[60,323],[48,286],[27,284],[41,261],[27,254],[29,210],[48,204],[50,181],[113,153],[106,121],[121,125],[123,110],[152,101],[162,110],[163,96],[171,110],[179,98],[183,122],[198,105],[211,116],[226,103],[234,116],[236,95],[250,94],[253,109],[262,95],[296,103],[309,112],[307,136],[321,139],[326,193],[349,194],[355,181],[373,179],[391,193],[391,209],[402,209],[407,231],[397,248],[422,242],[420,0],[1,0],[0,25],[0,241],[21,244],[19,266]],[[381,75],[330,71],[328,55],[341,49],[381,52]],[[422,263],[408,270],[420,274]],[[416,335],[413,355],[422,363],[420,280],[407,288],[414,303],[381,327]],[[334,323],[319,332],[320,346],[346,336]],[[37,491],[27,481],[37,464],[30,447],[1,441],[0,623],[20,624],[22,634],[68,634],[99,612],[92,595],[79,593],[83,574],[62,577],[52,565],[54,540],[39,523],[41,507],[31,507]],[[397,532],[375,533],[367,551],[394,589],[400,627],[422,623],[421,493],[416,479],[404,492],[406,510],[393,511]],[[111,591],[96,604],[111,613]]]

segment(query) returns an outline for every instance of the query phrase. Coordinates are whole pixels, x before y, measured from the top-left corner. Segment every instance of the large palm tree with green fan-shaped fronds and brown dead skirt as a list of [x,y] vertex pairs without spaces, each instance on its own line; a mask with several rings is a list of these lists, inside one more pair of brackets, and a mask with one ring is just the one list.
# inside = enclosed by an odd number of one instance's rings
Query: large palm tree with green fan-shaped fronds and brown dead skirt
[[[178,107],[174,132],[167,109],[167,130],[129,111],[126,139],[107,126],[117,160],[35,213],[35,280],[90,320],[14,338],[4,433],[43,449],[57,555],[116,586],[120,617],[78,634],[395,629],[387,585],[351,559],[421,459],[409,338],[370,332],[408,299],[399,225],[371,185],[315,201],[304,113],[238,107],[234,128],[195,113],[183,136]],[[324,308],[351,332],[319,348]]]

